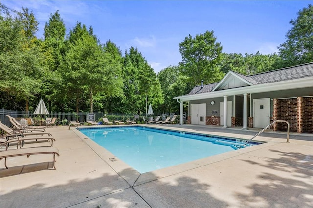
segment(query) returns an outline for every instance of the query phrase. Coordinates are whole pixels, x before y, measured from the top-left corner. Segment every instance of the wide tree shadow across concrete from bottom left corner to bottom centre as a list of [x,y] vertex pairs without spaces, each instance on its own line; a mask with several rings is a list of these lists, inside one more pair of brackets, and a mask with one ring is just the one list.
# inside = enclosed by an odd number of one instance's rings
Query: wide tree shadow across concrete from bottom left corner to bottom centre
[[[131,170],[125,170],[127,174]],[[44,174],[45,172],[43,172]],[[123,173],[123,172],[122,172]],[[17,176],[19,177],[19,176]],[[47,178],[47,180],[49,180]],[[117,185],[119,184],[119,186]],[[121,185],[122,184],[122,185]],[[148,187],[146,186],[148,185]],[[175,183],[153,183],[130,187],[118,175],[70,180],[50,186],[38,183],[1,195],[1,207],[226,207],[208,193],[210,185],[192,177],[177,178]],[[3,190],[5,191],[5,190]]]

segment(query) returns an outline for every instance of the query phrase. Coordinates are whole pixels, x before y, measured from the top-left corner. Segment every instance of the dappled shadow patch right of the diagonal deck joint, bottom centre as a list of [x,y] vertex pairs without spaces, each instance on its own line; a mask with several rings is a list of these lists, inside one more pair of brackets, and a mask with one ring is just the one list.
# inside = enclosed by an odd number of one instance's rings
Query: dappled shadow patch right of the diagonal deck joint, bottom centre
[[[151,173],[150,173],[151,174]],[[222,208],[228,204],[211,195],[210,185],[192,176],[157,179],[134,189],[153,208]]]

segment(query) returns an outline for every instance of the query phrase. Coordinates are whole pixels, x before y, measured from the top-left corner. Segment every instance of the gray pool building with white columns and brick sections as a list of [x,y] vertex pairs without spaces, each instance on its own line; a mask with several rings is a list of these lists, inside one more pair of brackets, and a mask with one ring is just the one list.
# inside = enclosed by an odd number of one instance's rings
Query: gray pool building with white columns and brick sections
[[[217,83],[195,86],[177,96],[180,124],[183,102],[188,102],[188,123],[264,128],[275,120],[290,123],[290,131],[313,132],[313,62],[245,76],[229,71]],[[274,131],[287,125],[275,123]]]

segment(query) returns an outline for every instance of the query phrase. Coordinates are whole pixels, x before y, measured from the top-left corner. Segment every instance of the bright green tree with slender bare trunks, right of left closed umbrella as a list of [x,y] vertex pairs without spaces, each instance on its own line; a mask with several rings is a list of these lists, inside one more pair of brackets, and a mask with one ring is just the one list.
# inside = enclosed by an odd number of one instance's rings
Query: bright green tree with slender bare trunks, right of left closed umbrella
[[70,31],[68,50],[63,65],[64,85],[68,99],[76,100],[79,112],[80,99],[88,100],[89,110],[99,96],[121,95],[120,62],[114,61],[110,53],[105,53],[92,30],[77,23]]

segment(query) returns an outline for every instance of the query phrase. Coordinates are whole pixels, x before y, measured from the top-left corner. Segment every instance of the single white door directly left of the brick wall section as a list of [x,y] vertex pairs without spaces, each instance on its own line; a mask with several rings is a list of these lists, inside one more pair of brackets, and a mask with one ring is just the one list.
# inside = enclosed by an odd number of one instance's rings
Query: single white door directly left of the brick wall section
[[270,98],[253,100],[254,128],[265,128],[269,125]]

